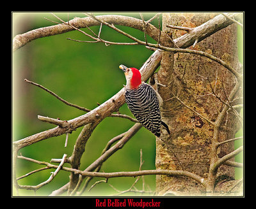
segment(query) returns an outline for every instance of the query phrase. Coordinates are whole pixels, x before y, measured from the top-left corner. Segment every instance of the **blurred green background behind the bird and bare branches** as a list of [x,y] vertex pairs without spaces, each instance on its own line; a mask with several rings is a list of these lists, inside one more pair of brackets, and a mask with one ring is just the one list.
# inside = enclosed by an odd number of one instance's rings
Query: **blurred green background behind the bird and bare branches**
[[[83,13],[55,13],[58,17],[67,21],[74,17],[85,17]],[[139,13],[94,13],[95,15],[127,15],[140,18]],[[51,13],[13,13],[13,37],[38,27],[54,25],[54,23],[45,20],[60,22]],[[145,20],[153,17],[155,13],[143,13]],[[45,18],[44,18],[45,17]],[[152,24],[158,27],[157,19]],[[135,29],[121,27],[120,29],[129,32],[140,40],[144,39],[144,34]],[[97,34],[99,26],[91,27]],[[88,29],[83,31],[92,34]],[[238,32],[239,38],[243,32]],[[102,26],[101,37],[108,41],[132,42],[118,32],[109,29],[106,25]],[[70,120],[83,115],[84,112],[61,103],[58,99],[51,96],[38,87],[24,82],[24,78],[44,85],[52,90],[58,96],[85,108],[93,109],[97,103],[104,103],[111,96],[122,89],[125,84],[124,73],[118,69],[120,64],[125,66],[140,68],[152,51],[143,46],[122,46],[110,45],[106,47],[104,43],[78,43],[67,40],[90,40],[81,32],[72,31],[56,36],[49,36],[31,41],[24,47],[13,53],[13,140],[20,140],[31,134],[39,133],[51,129],[51,124],[41,122],[37,115],[46,117],[60,118],[61,120]],[[156,43],[148,37],[148,41]],[[239,42],[240,52],[243,52],[243,37]],[[243,53],[239,55],[240,61],[243,59]],[[132,116],[125,104],[120,108],[120,113]],[[95,159],[99,157],[103,148],[111,138],[124,133],[133,122],[127,119],[108,117],[104,119],[93,131],[85,147],[84,155],[81,159],[81,169],[85,169]],[[68,137],[68,146],[65,148],[65,134],[62,136],[49,138],[40,141],[29,147],[22,148],[20,153],[26,157],[37,159],[38,161],[51,161],[52,158],[61,158],[63,154],[71,155],[77,136],[83,127],[73,131]],[[241,131],[242,134],[243,131]],[[237,135],[238,136],[238,135]],[[145,128],[141,128],[136,135],[114,155],[104,162],[101,171],[136,171],[140,166],[140,149],[143,151],[143,160],[145,160],[142,169],[155,169],[156,143],[155,137]],[[243,155],[241,155],[243,157]],[[241,161],[241,157],[237,161]],[[17,177],[42,168],[42,166],[33,162],[17,159]],[[65,164],[65,166],[69,166]],[[47,180],[54,169],[40,171],[29,177],[19,180],[21,185],[37,185]],[[241,169],[237,170],[237,178],[241,177]],[[51,194],[69,181],[67,171],[60,171],[54,180],[36,191],[36,196],[45,196]],[[155,176],[146,176],[145,183],[147,190],[154,191]],[[102,178],[93,178],[90,185]],[[117,192],[109,186],[113,185],[116,189],[124,191],[129,189],[135,178],[122,177],[110,178],[108,184],[101,183],[90,192],[84,192],[85,196],[106,196],[116,194]],[[142,180],[136,184],[137,189],[142,189]],[[13,195],[16,191],[13,187]],[[35,192],[19,189],[20,196],[33,196]],[[127,193],[127,195],[136,195]],[[139,194],[141,195],[141,194]],[[148,194],[146,194],[148,195]]]

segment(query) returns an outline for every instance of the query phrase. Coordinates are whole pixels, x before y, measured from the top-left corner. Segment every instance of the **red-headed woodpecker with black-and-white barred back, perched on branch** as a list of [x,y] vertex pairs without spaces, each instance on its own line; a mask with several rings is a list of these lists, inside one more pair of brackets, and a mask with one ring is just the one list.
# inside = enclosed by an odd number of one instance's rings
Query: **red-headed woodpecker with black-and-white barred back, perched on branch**
[[170,134],[168,126],[161,121],[161,96],[147,83],[141,82],[140,71],[136,68],[119,66],[126,78],[125,101],[136,119],[157,137],[161,135],[161,125]]

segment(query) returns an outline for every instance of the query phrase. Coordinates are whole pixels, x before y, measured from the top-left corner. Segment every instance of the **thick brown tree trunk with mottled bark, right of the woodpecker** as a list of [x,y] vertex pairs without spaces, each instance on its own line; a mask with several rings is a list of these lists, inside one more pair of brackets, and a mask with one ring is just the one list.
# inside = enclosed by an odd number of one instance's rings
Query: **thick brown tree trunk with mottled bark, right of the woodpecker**
[[[163,31],[175,39],[186,31],[170,29],[166,25],[196,27],[214,16],[212,13],[164,13]],[[236,24],[232,24],[190,48],[212,54],[238,69],[236,38]],[[162,44],[170,47],[173,43],[166,40]],[[207,179],[210,163],[234,150],[234,142],[225,143],[212,154],[214,133],[219,142],[234,138],[239,127],[235,115],[225,114],[220,127],[212,124],[223,110],[223,101],[227,101],[236,84],[236,77],[217,62],[205,57],[163,52],[157,81],[167,85],[157,85],[157,89],[164,101],[162,120],[168,124],[171,134],[162,130],[162,139],[156,138],[156,169],[183,169]],[[221,165],[213,178],[216,180],[220,177],[234,180],[234,168]],[[205,194],[205,187],[188,177],[157,175],[156,192],[160,196],[200,196]]]

